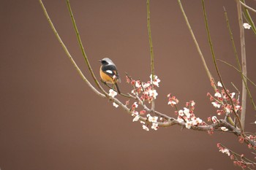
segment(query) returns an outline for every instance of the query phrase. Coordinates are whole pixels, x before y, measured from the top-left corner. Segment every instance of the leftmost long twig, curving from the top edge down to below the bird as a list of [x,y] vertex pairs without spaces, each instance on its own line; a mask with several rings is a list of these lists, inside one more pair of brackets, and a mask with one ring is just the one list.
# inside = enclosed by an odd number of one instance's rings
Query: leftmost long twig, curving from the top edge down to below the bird
[[78,65],[75,63],[74,59],[72,58],[72,56],[70,55],[69,51],[67,50],[66,45],[64,45],[64,42],[62,42],[61,37],[59,36],[58,32],[56,31],[56,28],[53,26],[53,22],[50,20],[48,12],[45,9],[44,4],[42,4],[42,0],[39,0],[39,3],[41,4],[42,10],[45,13],[45,17],[47,18],[48,23],[50,24],[50,28],[52,28],[56,38],[58,39],[59,43],[61,44],[61,47],[64,49],[64,52],[66,53],[67,57],[69,58],[69,60],[73,64],[73,66],[75,66],[75,69],[78,71],[78,74],[80,75],[80,77],[82,77],[83,81],[85,81],[86,84],[89,85],[89,88],[91,88],[91,90],[93,90],[95,93],[97,93],[98,96],[105,97],[105,95],[100,93],[96,88],[94,88],[93,85],[91,85],[89,80],[87,80],[86,77],[83,75],[83,72],[80,71]]

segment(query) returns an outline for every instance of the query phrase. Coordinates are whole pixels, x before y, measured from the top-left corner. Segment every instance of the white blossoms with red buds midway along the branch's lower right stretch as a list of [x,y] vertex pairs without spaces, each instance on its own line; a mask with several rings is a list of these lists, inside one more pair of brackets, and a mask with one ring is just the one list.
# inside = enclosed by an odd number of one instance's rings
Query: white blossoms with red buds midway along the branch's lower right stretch
[[186,107],[184,107],[184,109],[178,110],[178,122],[184,122],[186,128],[191,128],[192,125],[205,125],[203,120],[201,120],[199,117],[195,117],[194,109],[195,101],[187,102]]

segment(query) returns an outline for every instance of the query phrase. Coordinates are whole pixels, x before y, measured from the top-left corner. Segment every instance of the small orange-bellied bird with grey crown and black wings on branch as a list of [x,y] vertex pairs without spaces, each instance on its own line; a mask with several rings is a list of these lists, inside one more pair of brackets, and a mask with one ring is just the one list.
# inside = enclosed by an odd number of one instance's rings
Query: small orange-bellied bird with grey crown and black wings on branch
[[117,82],[121,82],[121,78],[119,77],[118,70],[116,68],[115,63],[110,60],[110,58],[103,58],[99,61],[102,63],[99,69],[99,75],[104,83],[108,82],[116,86],[117,93],[120,94],[120,90],[118,88]]

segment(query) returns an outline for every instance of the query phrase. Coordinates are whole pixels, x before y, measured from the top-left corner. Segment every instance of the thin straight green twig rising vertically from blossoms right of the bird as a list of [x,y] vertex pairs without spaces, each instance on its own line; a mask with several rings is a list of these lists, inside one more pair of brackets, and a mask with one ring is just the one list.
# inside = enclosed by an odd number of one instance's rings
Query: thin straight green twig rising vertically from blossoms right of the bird
[[[151,79],[152,79],[152,90],[154,90],[154,51],[153,51],[153,43],[151,36],[151,26],[150,26],[150,6],[149,0],[147,0],[147,27],[148,27],[148,39],[149,39],[149,47],[150,47],[150,58],[151,58]],[[151,109],[154,110],[154,98],[151,102]]]

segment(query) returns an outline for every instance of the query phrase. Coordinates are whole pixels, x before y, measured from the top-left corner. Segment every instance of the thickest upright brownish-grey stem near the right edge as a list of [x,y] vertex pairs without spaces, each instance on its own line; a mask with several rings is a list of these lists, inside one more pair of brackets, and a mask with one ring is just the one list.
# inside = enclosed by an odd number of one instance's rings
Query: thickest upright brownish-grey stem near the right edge
[[[238,11],[238,23],[240,29],[240,43],[241,43],[241,61],[242,61],[242,72],[243,75],[247,76],[246,71],[246,52],[245,52],[245,40],[244,40],[244,28],[243,28],[243,18],[240,0],[236,0],[237,11]],[[242,81],[242,111],[241,111],[241,125],[244,129],[245,125],[245,114],[246,114],[246,79]]]

